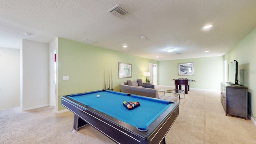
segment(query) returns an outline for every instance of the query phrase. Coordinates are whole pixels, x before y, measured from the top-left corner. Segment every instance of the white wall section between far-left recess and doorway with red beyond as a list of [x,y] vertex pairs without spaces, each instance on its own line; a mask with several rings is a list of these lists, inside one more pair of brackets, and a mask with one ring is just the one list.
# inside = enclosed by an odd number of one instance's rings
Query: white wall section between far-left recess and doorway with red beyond
[[22,41],[22,110],[49,105],[49,45]]

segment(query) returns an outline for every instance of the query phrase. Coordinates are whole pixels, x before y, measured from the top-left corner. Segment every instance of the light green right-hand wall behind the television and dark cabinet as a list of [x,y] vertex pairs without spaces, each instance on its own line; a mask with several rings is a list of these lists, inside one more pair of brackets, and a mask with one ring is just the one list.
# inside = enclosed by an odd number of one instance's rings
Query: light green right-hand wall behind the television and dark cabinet
[[[250,32],[241,42],[239,42],[224,57],[227,62],[238,61],[238,80],[248,87],[248,107],[252,114],[256,116],[256,28]],[[251,115],[250,110],[248,114]]]

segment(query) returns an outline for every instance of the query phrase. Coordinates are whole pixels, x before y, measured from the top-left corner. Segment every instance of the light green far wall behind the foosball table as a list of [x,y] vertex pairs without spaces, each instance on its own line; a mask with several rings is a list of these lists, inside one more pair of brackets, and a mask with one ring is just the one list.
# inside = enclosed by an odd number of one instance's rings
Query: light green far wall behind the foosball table
[[[194,76],[179,76],[178,64],[194,62]],[[224,56],[165,60],[158,62],[158,85],[175,86],[176,78],[190,78],[190,88],[220,90],[224,81]]]

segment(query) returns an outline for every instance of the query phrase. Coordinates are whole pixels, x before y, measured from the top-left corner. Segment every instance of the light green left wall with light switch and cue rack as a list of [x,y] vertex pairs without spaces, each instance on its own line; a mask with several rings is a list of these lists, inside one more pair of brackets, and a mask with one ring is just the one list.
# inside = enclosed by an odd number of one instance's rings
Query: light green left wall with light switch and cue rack
[[[130,54],[91,46],[80,42],[58,38],[58,111],[65,109],[61,105],[61,96],[101,90],[104,71],[112,70],[114,91],[120,92],[120,83],[126,80],[142,78],[148,72],[149,63],[157,61]],[[118,78],[118,62],[132,64],[132,78]],[[69,80],[62,80],[69,76]]]

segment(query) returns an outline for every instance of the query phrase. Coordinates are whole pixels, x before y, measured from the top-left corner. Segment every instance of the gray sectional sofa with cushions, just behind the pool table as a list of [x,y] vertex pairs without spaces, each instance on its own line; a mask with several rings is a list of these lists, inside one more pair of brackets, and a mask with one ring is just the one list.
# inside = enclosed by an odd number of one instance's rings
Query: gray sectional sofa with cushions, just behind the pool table
[[[130,83],[129,85],[127,83]],[[139,96],[148,96],[151,98],[160,98],[163,100],[168,101],[175,101],[177,102],[177,98],[173,96],[163,96],[158,95],[157,89],[154,88],[154,85],[143,82],[141,80],[130,80],[130,82],[122,82],[120,84],[121,86],[121,92],[128,93],[128,94],[135,94]],[[143,87],[144,86],[144,87]],[[146,88],[146,87],[153,87],[153,88]]]

